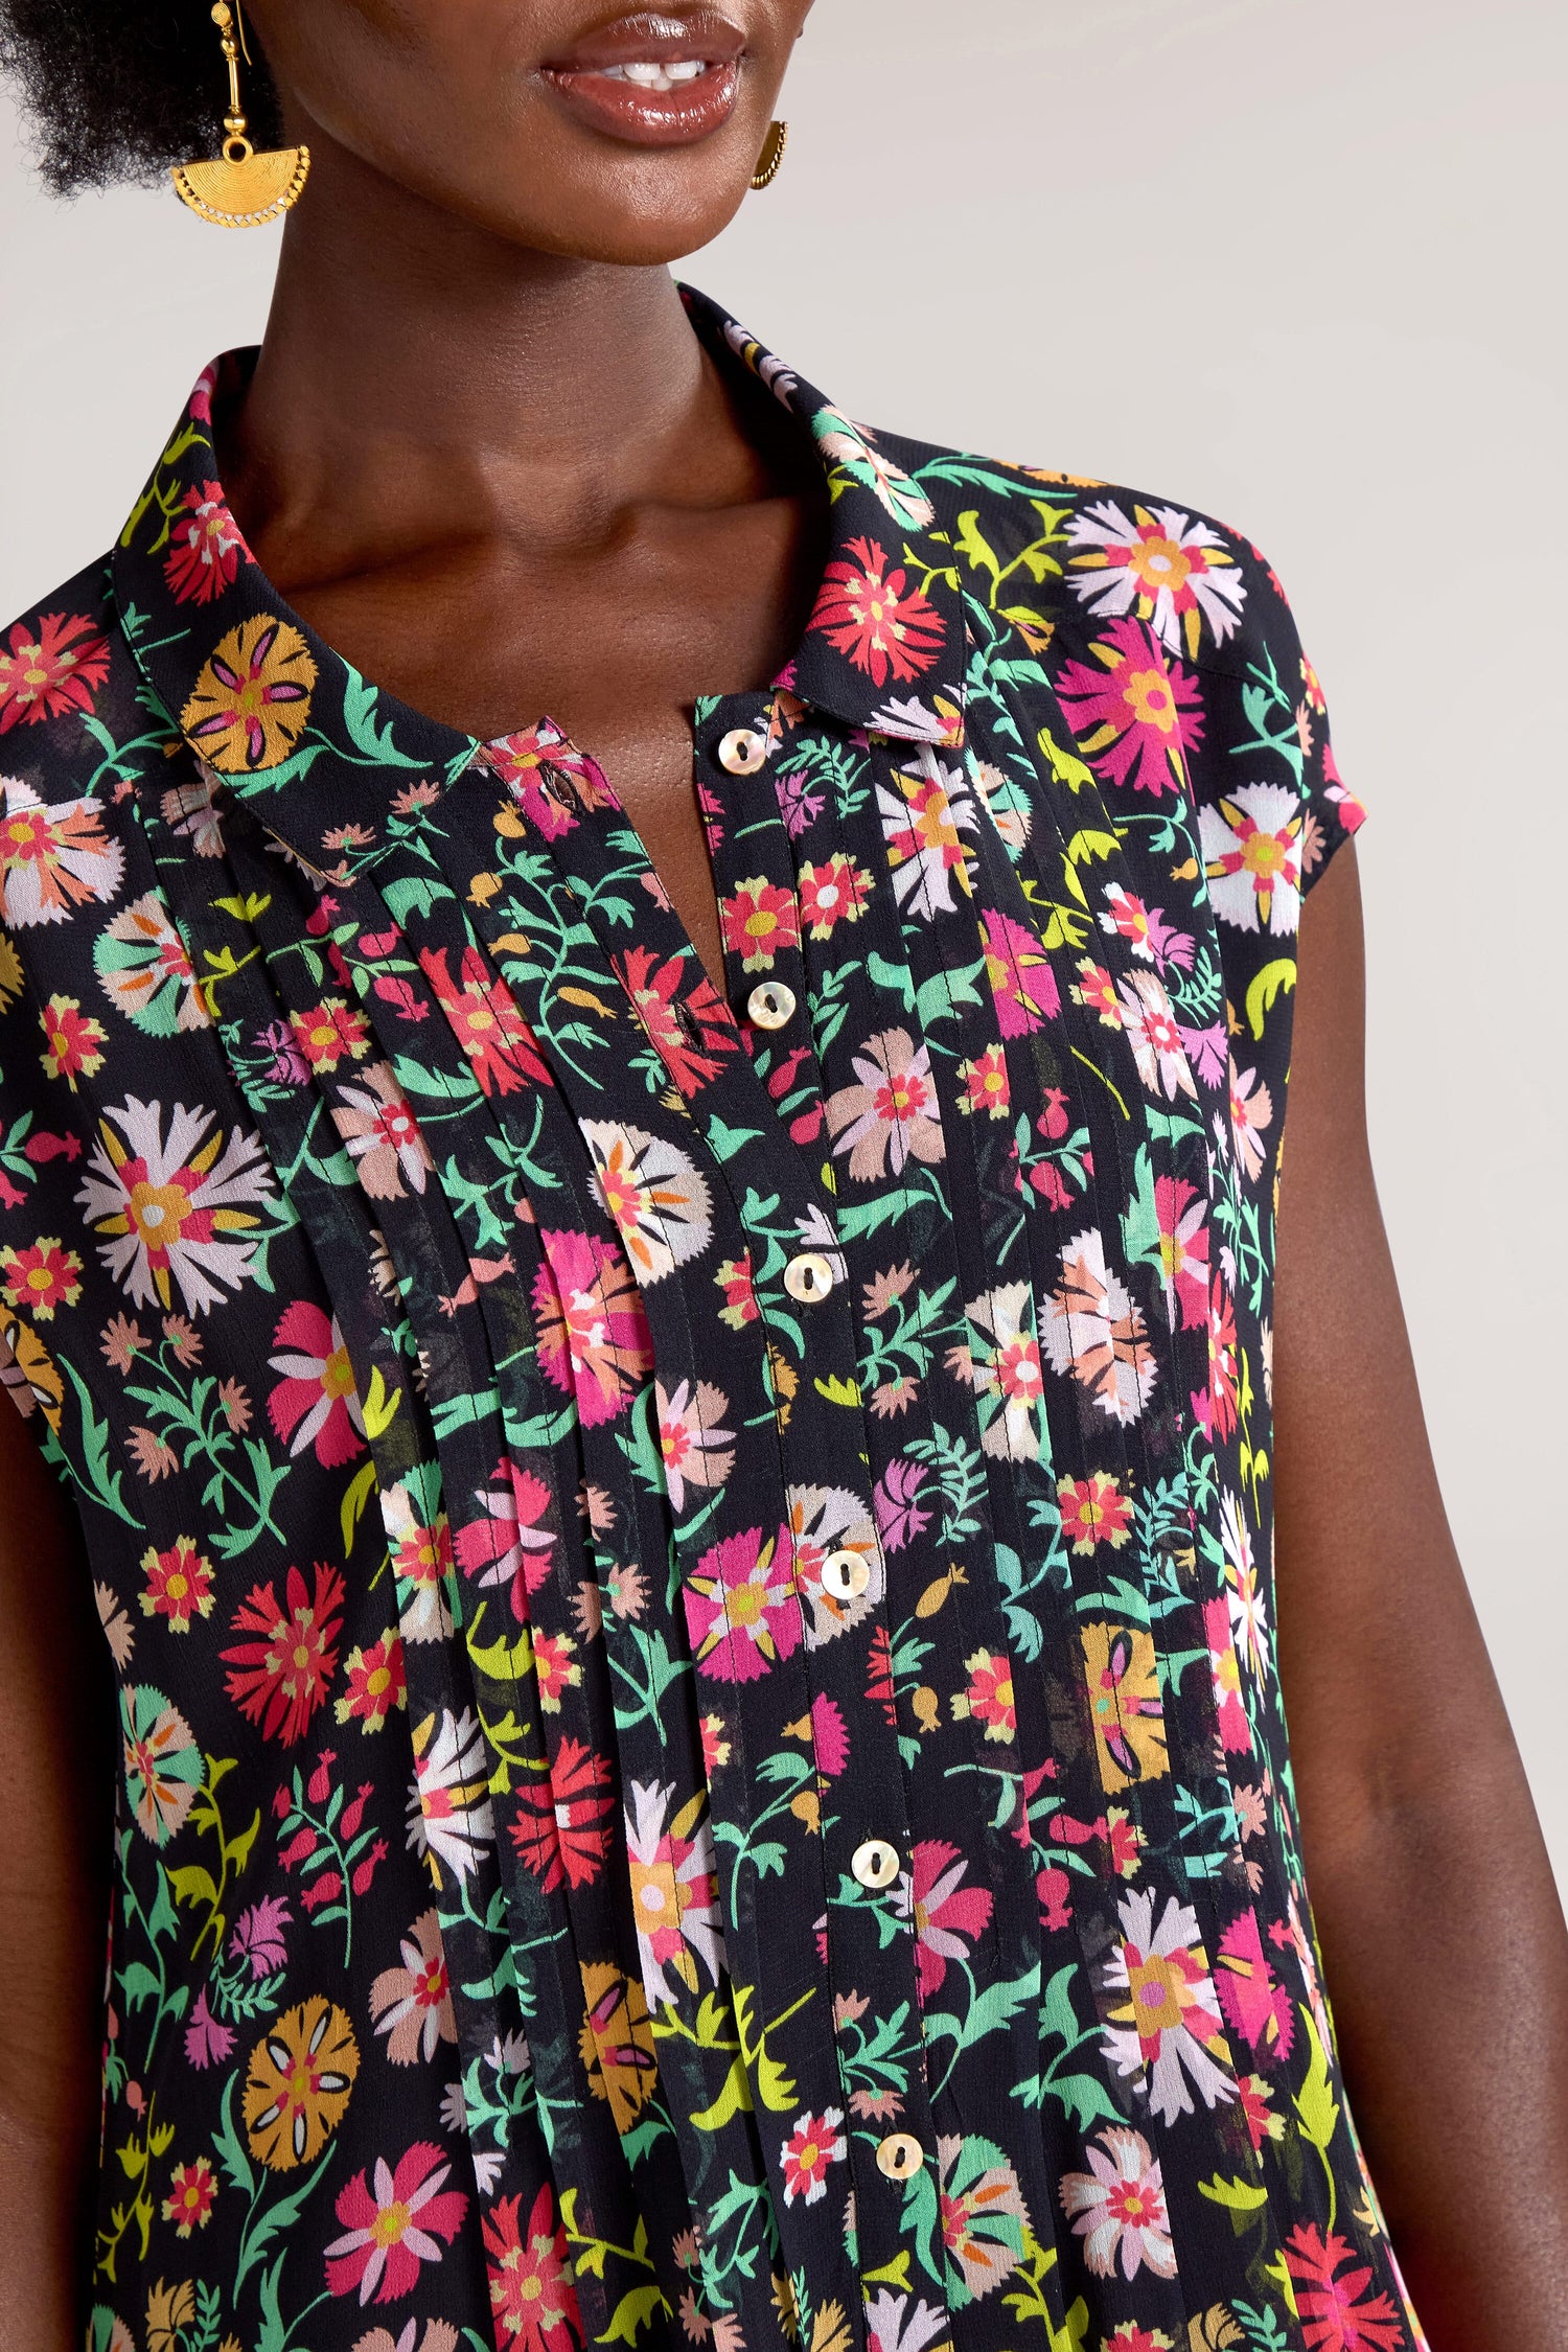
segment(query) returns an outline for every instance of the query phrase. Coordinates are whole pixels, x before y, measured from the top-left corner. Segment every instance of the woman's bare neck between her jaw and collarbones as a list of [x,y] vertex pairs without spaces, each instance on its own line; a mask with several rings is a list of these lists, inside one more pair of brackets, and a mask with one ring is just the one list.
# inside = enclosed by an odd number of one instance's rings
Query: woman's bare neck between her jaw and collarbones
[[759,459],[665,268],[522,249],[327,143],[221,466],[287,588],[454,529],[592,541]]

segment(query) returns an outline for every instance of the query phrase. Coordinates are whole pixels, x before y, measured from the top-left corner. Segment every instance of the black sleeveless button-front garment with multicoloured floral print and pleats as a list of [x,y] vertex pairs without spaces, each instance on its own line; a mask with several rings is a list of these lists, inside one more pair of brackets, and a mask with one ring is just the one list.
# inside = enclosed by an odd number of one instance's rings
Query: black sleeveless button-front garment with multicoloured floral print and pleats
[[92,2352],[1413,2352],[1274,1668],[1267,564],[811,435],[595,762],[289,614],[209,369],[0,633],[0,1331],[122,1719]]

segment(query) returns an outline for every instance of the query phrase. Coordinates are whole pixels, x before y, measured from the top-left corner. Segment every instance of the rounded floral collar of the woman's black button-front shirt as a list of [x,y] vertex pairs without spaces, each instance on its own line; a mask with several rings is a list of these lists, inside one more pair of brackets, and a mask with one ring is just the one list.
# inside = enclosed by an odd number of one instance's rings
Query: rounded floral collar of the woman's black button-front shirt
[[[705,294],[682,289],[719,365],[748,367],[813,440],[832,501],[806,635],[776,684],[844,727],[964,741],[964,609],[919,482]],[[228,513],[214,407],[254,350],[207,367],[113,555],[127,644],[193,753],[306,863],[353,868],[388,814],[430,797],[480,750],[371,687],[292,612]],[[520,713],[520,724],[536,713]],[[331,823],[324,830],[322,816]]]

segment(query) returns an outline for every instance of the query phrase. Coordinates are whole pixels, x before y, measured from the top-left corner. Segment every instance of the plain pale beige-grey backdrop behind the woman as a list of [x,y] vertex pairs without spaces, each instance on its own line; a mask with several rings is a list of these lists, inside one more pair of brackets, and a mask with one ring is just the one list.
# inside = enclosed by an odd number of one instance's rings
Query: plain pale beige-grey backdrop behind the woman
[[[689,266],[856,416],[1284,574],[1373,809],[1373,1143],[1563,1884],[1566,94],[1563,0],[818,0],[785,172]],[[49,205],[0,115],[2,614],[108,543],[273,252]]]

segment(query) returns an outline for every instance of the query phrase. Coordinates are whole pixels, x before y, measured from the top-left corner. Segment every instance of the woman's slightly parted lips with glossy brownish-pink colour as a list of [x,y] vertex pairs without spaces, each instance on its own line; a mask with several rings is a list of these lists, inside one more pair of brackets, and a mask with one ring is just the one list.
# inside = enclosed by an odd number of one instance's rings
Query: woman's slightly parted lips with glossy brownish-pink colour
[[689,146],[722,129],[741,94],[745,35],[710,9],[618,16],[541,80],[581,122],[630,146]]

